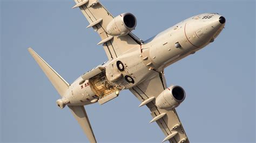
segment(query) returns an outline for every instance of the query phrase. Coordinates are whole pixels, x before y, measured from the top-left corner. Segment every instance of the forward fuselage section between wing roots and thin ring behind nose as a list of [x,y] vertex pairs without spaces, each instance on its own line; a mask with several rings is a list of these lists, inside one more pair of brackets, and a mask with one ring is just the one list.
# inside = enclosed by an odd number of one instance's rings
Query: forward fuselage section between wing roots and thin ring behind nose
[[[162,32],[163,35],[158,35],[156,39],[145,45],[145,47],[150,47],[148,49],[149,57],[157,70],[170,65],[191,51],[192,45],[186,39],[184,25],[184,23],[180,23],[178,27],[169,28],[168,31]],[[176,47],[176,44],[180,47]]]

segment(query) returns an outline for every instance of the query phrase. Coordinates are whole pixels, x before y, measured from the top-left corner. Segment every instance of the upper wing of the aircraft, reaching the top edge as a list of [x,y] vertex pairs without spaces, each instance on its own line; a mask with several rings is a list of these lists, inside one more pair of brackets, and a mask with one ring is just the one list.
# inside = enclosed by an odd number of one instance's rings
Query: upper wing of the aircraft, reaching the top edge
[[103,44],[109,60],[117,58],[130,48],[140,47],[139,39],[132,33],[122,36],[111,36],[106,33],[107,24],[114,18],[98,0],[75,0],[73,8],[80,8],[89,25],[102,39],[98,45]]

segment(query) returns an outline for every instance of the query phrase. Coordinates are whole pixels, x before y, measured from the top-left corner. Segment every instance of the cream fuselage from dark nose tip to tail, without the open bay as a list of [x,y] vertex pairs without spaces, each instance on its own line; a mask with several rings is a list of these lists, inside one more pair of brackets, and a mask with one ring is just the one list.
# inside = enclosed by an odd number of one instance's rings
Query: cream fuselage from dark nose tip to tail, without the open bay
[[[150,77],[152,72],[160,73],[214,41],[225,26],[225,19],[224,23],[220,22],[220,17],[218,13],[204,13],[188,18],[100,66],[105,69],[106,78],[113,87],[130,89]],[[117,68],[117,61],[123,63],[123,71]],[[88,80],[81,84],[82,81],[79,77],[71,84],[63,97],[63,101],[69,101],[66,105],[97,102],[99,95]]]

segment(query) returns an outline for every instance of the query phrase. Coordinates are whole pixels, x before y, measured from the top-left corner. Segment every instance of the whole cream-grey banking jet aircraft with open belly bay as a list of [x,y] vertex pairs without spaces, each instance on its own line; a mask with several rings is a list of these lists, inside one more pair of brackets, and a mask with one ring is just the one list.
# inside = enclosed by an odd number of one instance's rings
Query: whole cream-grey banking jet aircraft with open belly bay
[[69,84],[32,48],[28,51],[61,96],[59,108],[67,105],[90,142],[97,142],[84,105],[100,105],[129,89],[147,106],[165,134],[164,141],[189,142],[176,108],[186,97],[179,85],[166,85],[164,69],[214,41],[226,19],[218,13],[203,13],[143,41],[131,31],[137,25],[132,13],[113,17],[98,0],[75,0],[89,25],[98,34],[108,60]]

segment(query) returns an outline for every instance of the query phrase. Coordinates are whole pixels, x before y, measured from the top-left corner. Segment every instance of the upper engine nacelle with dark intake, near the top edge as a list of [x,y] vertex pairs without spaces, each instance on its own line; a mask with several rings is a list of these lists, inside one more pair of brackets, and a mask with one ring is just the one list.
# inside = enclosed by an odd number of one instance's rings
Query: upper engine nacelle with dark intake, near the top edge
[[130,33],[137,25],[137,20],[132,13],[123,13],[115,17],[107,25],[107,34],[111,35],[126,35]]

